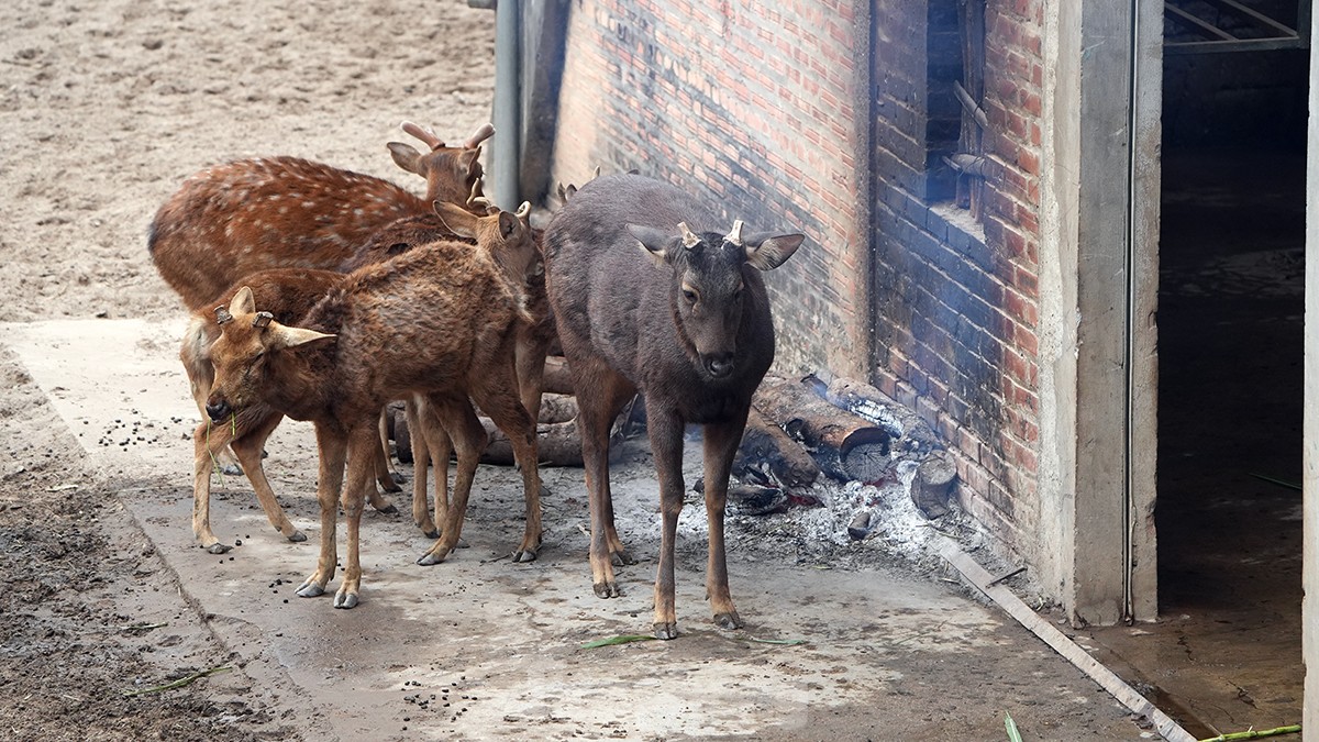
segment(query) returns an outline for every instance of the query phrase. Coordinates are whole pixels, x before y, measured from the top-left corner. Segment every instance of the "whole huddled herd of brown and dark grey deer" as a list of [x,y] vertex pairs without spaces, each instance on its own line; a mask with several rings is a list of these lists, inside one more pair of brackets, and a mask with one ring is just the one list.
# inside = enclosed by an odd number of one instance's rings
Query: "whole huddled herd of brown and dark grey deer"
[[[365,502],[398,491],[383,413],[404,401],[414,459],[413,520],[434,544],[417,561],[452,552],[487,433],[503,430],[526,504],[513,561],[541,547],[537,415],[549,349],[571,368],[590,494],[595,594],[619,595],[613,566],[633,558],[619,539],[609,494],[613,419],[644,396],[660,487],[661,549],[656,636],[678,635],[674,537],[682,508],[683,430],[703,426],[710,531],[707,594],[715,623],[741,621],[728,590],[724,508],[752,392],[774,358],[760,273],[781,265],[801,234],[720,228],[718,205],[640,174],[561,189],[566,203],[543,234],[530,205],[514,211],[483,193],[487,124],[460,145],[404,131],[429,152],[390,143],[394,162],[426,193],[294,157],[239,160],[187,178],[157,211],[148,247],[161,277],[191,312],[179,356],[202,413],[194,434],[193,533],[211,529],[211,473],[231,457],[270,524],[306,536],[276,500],[262,470],[284,417],[309,420],[319,453],[321,549],[297,593],[322,595],[347,552],[334,606],[360,599],[359,540]],[[456,459],[452,491],[448,463]],[[434,465],[434,514],[427,504]]]

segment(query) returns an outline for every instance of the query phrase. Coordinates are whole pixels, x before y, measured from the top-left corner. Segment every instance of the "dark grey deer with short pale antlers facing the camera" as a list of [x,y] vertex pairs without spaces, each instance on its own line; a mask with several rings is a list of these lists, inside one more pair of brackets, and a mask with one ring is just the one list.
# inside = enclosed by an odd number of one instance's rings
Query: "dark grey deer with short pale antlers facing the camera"
[[[546,288],[576,388],[591,499],[595,594],[619,594],[612,558],[630,564],[613,527],[609,425],[637,391],[660,479],[662,536],[654,634],[678,635],[674,535],[682,510],[687,424],[704,426],[706,589],[715,623],[741,621],[728,591],[724,507],[752,392],[774,359],[760,273],[781,265],[799,234],[715,230],[706,202],[650,178],[596,178],[572,194],[545,234]],[[689,227],[690,226],[690,227]]]

